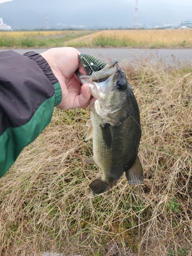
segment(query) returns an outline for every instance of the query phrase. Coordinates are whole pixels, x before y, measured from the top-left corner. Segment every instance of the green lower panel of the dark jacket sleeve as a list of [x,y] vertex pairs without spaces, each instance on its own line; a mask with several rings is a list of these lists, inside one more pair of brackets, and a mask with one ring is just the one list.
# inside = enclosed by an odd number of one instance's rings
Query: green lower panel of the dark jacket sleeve
[[[59,94],[58,86],[60,87],[59,84],[56,84],[56,90]],[[55,99],[55,96],[53,95],[44,101],[28,123],[15,128],[9,127],[0,136],[0,177],[15,162],[23,148],[35,140],[51,122],[55,101],[56,104],[59,102]]]

